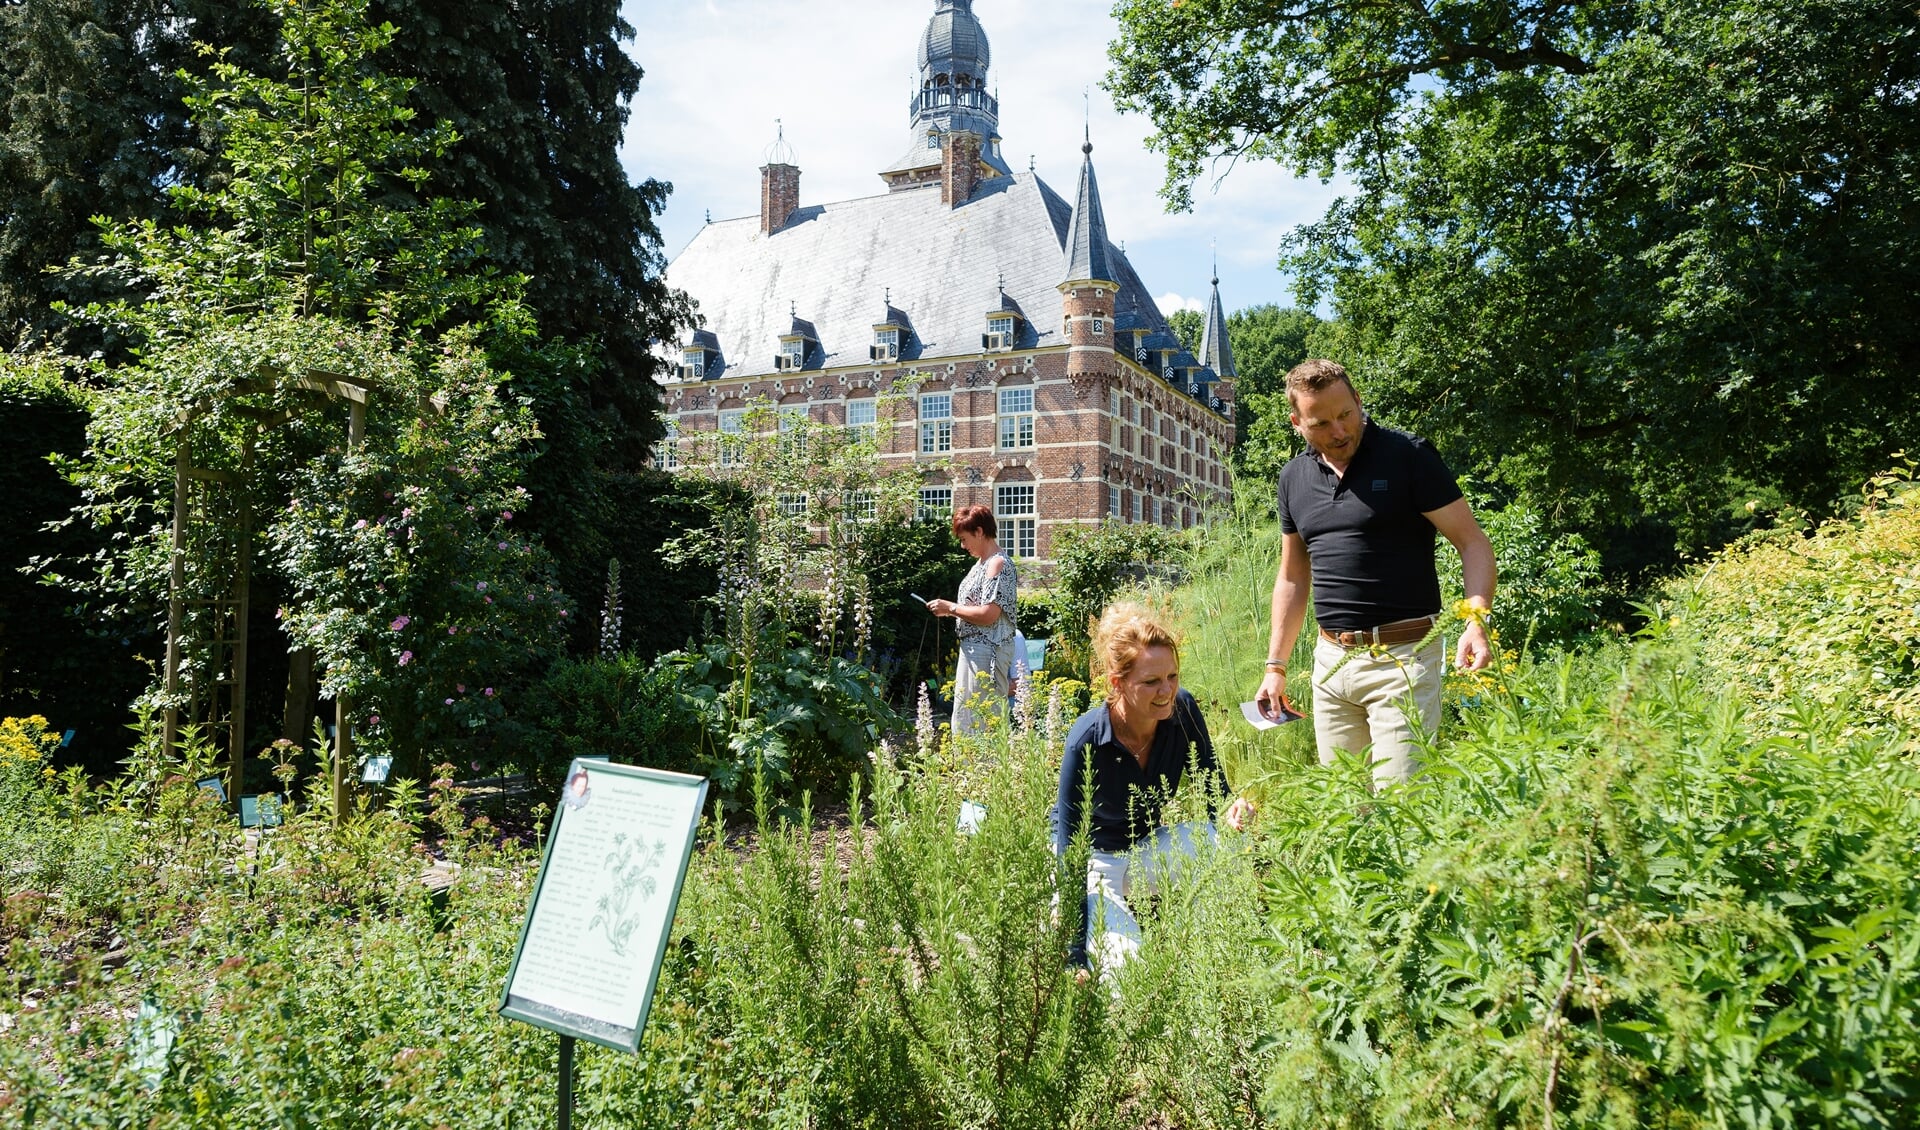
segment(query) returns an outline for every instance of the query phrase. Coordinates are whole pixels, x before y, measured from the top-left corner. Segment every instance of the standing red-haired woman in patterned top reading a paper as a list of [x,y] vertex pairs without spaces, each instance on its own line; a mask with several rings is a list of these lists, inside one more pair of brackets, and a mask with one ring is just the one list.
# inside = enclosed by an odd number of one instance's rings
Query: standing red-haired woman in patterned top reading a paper
[[987,718],[1006,712],[1014,679],[1014,558],[995,539],[998,526],[987,506],[954,512],[954,537],[973,556],[958,600],[927,600],[935,616],[954,618],[960,666],[954,671],[954,735],[975,733]]

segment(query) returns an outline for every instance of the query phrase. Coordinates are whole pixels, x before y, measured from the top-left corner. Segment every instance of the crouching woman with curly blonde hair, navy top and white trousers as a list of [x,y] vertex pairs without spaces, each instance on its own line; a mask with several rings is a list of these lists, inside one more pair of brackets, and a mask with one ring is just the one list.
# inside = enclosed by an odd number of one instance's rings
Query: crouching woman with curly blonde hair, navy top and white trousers
[[[1181,656],[1173,633],[1139,604],[1114,604],[1092,637],[1094,662],[1106,673],[1106,704],[1079,716],[1068,731],[1054,800],[1054,854],[1066,858],[1081,825],[1089,825],[1087,917],[1073,961],[1087,961],[1087,934],[1104,971],[1116,969],[1140,946],[1140,923],[1127,907],[1131,894],[1158,884],[1169,863],[1192,856],[1194,840],[1212,840],[1212,823],[1160,827],[1160,813],[1192,773],[1200,787],[1219,775],[1213,741],[1200,706],[1181,691]],[[1221,821],[1238,829],[1252,804],[1235,800]]]

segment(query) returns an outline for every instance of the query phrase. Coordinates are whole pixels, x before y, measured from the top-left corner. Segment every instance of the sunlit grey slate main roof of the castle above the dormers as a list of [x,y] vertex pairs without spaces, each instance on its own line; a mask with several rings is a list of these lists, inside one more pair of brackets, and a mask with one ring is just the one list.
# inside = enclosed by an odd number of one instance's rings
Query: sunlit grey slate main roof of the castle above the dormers
[[[987,311],[1006,297],[1025,311],[1016,349],[1056,345],[1060,280],[1071,209],[1033,173],[983,182],[960,207],[924,184],[793,213],[762,234],[760,217],[701,228],[666,269],[666,282],[699,303],[724,365],[707,380],[774,374],[780,336],[795,315],[816,328],[806,368],[866,365],[874,311],[891,303],[912,318],[902,361],[977,357]],[[1125,253],[1106,246],[1106,272],[1119,284],[1116,311],[1137,311],[1144,328],[1167,322]],[[1171,340],[1171,334],[1167,334]]]

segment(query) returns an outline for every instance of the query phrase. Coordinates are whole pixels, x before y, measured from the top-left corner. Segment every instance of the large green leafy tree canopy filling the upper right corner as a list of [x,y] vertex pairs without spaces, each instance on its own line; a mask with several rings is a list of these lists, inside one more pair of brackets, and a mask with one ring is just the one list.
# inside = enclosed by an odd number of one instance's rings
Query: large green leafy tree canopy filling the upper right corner
[[1565,528],[1826,512],[1920,430],[1920,36],[1899,4],[1125,0],[1165,198],[1352,190],[1283,247],[1369,403]]

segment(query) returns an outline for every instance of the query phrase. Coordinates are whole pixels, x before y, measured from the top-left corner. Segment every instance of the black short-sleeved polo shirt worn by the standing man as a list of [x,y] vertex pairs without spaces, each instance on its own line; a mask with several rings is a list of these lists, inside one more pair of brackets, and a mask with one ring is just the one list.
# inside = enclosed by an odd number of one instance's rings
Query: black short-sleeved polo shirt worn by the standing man
[[1281,531],[1313,562],[1313,618],[1361,631],[1440,612],[1430,510],[1459,499],[1446,460],[1419,436],[1367,420],[1344,476],[1308,449],[1281,468]]

